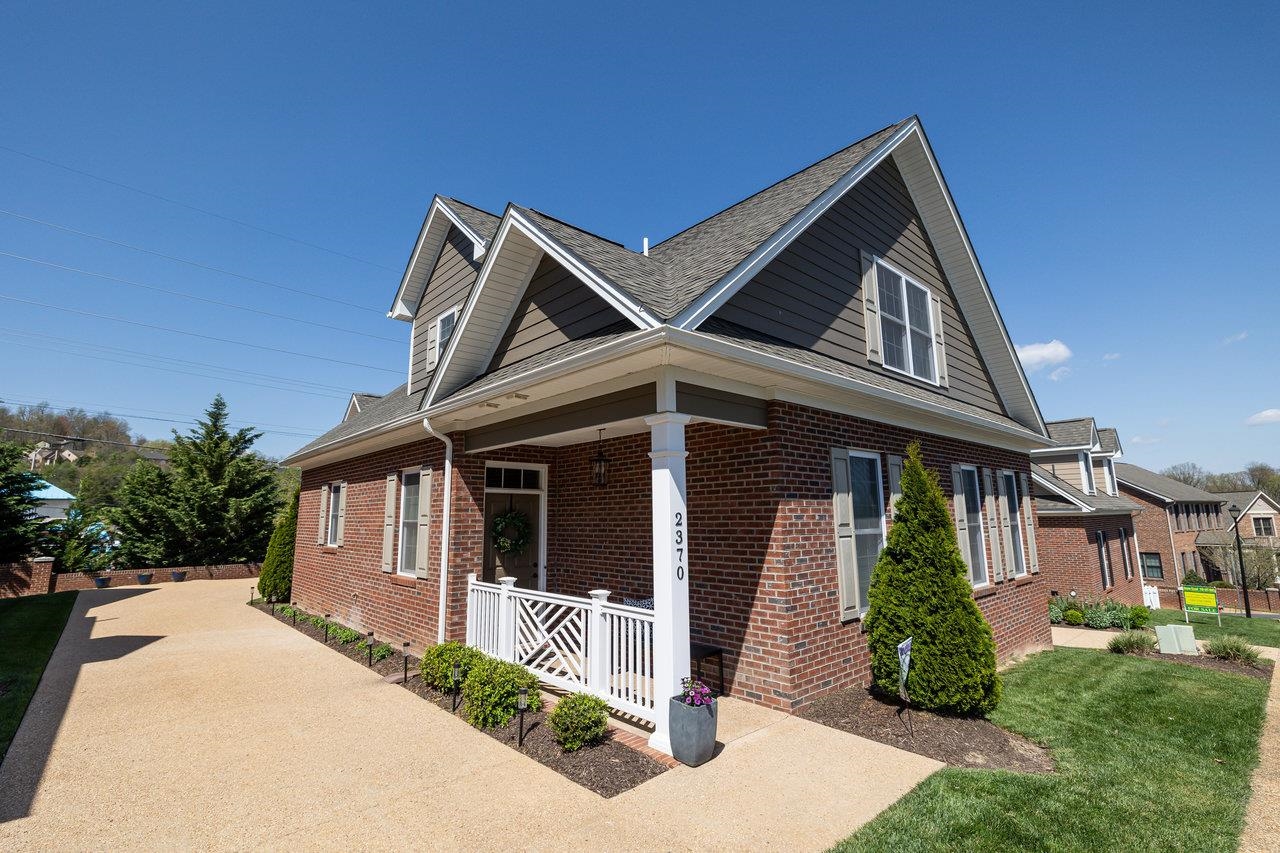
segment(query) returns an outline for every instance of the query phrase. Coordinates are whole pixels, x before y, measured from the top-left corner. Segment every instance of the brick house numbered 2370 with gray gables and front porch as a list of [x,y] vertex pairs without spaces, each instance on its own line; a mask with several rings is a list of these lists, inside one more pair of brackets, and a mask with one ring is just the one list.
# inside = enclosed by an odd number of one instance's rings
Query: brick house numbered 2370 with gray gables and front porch
[[639,252],[436,196],[390,316],[406,384],[287,460],[311,611],[465,639],[668,749],[703,647],[728,693],[788,711],[868,680],[919,441],[998,654],[1050,642],[1029,453],[1051,439],[914,117]]

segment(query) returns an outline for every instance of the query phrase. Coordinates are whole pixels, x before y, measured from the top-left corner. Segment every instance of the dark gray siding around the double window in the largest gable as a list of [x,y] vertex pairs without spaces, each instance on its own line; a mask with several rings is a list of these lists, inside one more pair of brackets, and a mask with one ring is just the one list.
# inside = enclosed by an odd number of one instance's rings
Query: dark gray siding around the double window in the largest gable
[[867,361],[863,250],[884,257],[941,298],[950,387],[937,393],[1007,414],[892,159],[863,178],[716,315],[846,364],[877,369]]

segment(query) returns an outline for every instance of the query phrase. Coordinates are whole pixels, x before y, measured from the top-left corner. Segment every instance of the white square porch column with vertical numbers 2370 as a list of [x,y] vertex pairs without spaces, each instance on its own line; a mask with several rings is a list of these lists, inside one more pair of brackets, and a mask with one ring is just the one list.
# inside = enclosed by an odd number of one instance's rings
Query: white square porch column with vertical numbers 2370
[[669,698],[689,675],[689,512],[685,507],[685,424],[689,415],[645,418],[653,474],[654,720],[649,745],[671,754]]

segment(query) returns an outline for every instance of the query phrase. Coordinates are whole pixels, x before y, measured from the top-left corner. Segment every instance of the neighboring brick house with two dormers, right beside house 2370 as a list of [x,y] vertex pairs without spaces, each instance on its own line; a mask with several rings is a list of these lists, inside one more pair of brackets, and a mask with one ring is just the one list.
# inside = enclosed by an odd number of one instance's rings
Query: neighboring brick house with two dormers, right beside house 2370
[[1116,430],[1098,429],[1092,418],[1047,426],[1059,446],[1032,452],[1032,494],[1041,575],[1050,594],[1142,605],[1134,529],[1139,507],[1116,483],[1115,460],[1123,452]]

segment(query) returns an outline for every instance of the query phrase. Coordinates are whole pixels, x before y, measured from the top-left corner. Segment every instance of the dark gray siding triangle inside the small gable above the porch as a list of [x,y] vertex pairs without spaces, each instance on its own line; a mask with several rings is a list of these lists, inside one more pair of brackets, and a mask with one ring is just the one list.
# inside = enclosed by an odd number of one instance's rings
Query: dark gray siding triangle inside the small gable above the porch
[[489,371],[589,337],[621,319],[595,291],[550,257],[543,257],[498,342]]

